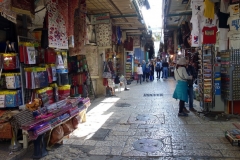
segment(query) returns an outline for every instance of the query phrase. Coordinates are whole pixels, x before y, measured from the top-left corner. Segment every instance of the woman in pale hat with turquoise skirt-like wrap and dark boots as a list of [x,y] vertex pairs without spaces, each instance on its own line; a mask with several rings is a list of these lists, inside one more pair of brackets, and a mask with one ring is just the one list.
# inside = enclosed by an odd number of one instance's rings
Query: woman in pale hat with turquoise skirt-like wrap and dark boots
[[176,69],[174,71],[174,76],[177,81],[176,88],[173,93],[173,98],[179,99],[179,112],[178,116],[188,116],[187,113],[184,112],[185,102],[188,102],[188,82],[187,80],[191,80],[192,76],[189,76],[186,70],[186,59],[180,58],[177,62]]

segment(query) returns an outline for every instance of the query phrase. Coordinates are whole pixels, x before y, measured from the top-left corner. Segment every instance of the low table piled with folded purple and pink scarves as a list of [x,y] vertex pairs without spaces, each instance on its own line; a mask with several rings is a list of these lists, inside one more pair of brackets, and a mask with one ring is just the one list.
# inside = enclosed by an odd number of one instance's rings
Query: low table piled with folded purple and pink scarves
[[[76,129],[77,124],[73,123],[86,121],[85,114],[90,104],[89,98],[67,98],[35,111],[23,110],[13,116],[11,123],[14,127],[22,129],[23,140],[20,142],[23,143],[23,148],[28,147],[30,140],[35,141],[40,135],[45,133],[49,135],[47,146],[51,147]],[[78,121],[72,122],[74,118]],[[67,123],[67,128],[70,130],[66,131],[67,133],[64,133],[64,136],[57,139],[52,133],[56,127],[64,127],[65,123]]]

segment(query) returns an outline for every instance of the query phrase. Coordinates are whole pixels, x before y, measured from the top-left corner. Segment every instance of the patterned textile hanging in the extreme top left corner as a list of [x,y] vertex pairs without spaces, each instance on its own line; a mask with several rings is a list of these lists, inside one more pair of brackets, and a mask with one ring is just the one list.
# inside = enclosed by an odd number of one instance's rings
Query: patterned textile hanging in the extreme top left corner
[[2,0],[0,2],[1,16],[7,20],[17,23],[17,14],[11,10],[12,2],[10,0]]

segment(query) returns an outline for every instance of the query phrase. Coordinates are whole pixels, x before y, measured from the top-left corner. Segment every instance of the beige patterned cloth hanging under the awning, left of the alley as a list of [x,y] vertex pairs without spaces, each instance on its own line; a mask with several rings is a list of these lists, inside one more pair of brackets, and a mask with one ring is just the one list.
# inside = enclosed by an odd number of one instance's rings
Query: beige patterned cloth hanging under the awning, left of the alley
[[112,25],[98,24],[96,32],[98,47],[112,48]]

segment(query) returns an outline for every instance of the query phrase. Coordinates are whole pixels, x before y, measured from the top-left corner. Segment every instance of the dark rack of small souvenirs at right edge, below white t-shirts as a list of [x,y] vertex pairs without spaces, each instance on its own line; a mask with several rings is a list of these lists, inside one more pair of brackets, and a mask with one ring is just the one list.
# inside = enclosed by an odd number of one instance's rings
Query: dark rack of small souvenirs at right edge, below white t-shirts
[[240,100],[240,49],[221,52],[221,94],[228,101]]

